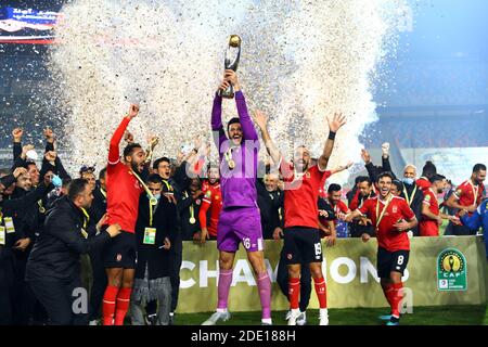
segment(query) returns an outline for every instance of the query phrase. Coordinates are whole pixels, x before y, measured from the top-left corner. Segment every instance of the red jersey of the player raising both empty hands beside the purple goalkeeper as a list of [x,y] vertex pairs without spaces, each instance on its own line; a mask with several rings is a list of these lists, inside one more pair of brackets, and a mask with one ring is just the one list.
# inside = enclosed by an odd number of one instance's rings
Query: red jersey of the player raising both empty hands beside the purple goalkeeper
[[319,188],[325,171],[318,165],[309,167],[303,175],[296,176],[293,165],[282,159],[280,172],[284,181],[285,228],[319,228]]

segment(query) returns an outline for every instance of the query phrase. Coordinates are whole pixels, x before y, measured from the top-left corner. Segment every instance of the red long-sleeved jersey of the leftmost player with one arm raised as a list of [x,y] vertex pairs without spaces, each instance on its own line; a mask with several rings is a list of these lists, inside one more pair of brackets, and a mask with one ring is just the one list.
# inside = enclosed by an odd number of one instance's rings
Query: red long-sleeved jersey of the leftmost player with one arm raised
[[139,195],[143,192],[132,171],[120,163],[118,145],[130,119],[125,117],[111,140],[106,167],[105,224],[119,224],[123,231],[133,233],[139,210]]

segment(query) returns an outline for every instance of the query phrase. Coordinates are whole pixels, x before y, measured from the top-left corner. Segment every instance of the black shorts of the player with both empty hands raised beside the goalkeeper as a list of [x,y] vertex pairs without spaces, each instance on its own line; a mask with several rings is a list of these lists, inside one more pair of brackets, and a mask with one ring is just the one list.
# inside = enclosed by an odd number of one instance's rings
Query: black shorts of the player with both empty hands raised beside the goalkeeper
[[283,253],[286,265],[322,262],[322,242],[319,229],[286,228]]

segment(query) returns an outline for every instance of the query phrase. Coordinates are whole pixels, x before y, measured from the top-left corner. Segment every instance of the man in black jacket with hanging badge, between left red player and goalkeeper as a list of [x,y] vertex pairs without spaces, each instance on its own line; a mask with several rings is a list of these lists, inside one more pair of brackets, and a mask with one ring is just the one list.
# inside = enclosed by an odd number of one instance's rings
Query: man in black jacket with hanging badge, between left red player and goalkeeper
[[142,304],[153,303],[158,307],[158,313],[147,310],[149,321],[157,325],[169,324],[171,309],[171,258],[169,248],[177,231],[177,207],[164,196],[163,179],[153,174],[149,178],[147,188],[157,198],[155,206],[150,205],[145,193],[139,200],[139,216],[136,223],[136,240],[138,262],[136,268],[136,282],[130,299],[132,325],[143,325]]

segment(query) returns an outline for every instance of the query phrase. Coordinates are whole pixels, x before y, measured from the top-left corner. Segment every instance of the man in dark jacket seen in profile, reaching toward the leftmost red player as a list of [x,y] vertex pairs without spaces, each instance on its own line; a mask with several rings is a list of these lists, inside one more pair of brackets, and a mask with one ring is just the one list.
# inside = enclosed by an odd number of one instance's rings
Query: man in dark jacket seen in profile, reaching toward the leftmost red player
[[[120,233],[120,227],[113,224],[106,232],[88,239],[86,209],[92,200],[88,182],[73,180],[68,195],[57,200],[49,213],[27,262],[26,280],[47,309],[52,324],[88,323],[88,295],[80,308],[74,305],[82,293],[78,292],[81,290],[79,256]],[[101,224],[97,228],[100,230]]]

